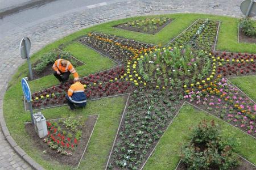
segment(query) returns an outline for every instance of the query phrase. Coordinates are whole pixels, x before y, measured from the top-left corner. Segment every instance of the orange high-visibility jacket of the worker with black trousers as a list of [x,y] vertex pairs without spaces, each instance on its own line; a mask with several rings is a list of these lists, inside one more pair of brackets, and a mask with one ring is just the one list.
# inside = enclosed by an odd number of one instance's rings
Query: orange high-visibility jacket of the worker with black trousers
[[61,73],[65,73],[65,72],[68,72],[68,71],[69,71],[70,73],[73,74],[73,76],[74,76],[75,78],[79,78],[79,75],[78,75],[78,73],[76,72],[75,68],[73,67],[72,63],[66,60],[66,61],[67,61],[67,66],[66,66],[66,67],[63,67],[63,66],[61,65],[61,63],[60,63],[62,60],[65,60],[65,59],[57,59],[57,60],[55,61],[55,63],[54,63],[53,66],[52,66],[53,70],[55,70],[55,71],[59,70]]

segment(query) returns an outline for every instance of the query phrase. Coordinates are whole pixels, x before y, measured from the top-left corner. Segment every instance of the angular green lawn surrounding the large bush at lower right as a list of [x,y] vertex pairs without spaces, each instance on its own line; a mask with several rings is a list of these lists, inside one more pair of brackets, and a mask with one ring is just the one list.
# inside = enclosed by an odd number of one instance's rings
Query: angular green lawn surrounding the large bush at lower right
[[198,111],[192,105],[185,104],[160,139],[144,169],[175,169],[180,160],[180,146],[190,141],[191,130],[189,129],[197,126],[202,120],[217,122],[220,125],[222,137],[236,139],[241,143],[235,148],[238,154],[256,164],[256,140],[254,138],[218,118],[209,116],[208,113]]

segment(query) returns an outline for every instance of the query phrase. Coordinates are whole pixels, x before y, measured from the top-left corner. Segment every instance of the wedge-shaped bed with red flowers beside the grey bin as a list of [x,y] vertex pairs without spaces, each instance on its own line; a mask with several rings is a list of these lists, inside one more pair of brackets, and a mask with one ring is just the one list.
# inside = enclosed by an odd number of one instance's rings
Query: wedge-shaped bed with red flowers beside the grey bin
[[47,122],[48,135],[40,139],[32,124],[26,125],[34,146],[43,152],[43,158],[77,166],[93,132],[97,116],[67,118]]

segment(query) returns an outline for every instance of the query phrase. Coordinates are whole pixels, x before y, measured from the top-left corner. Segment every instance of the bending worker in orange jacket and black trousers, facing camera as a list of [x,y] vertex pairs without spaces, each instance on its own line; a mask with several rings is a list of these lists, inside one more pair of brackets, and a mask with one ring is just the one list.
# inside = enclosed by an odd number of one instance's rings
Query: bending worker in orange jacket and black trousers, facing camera
[[56,76],[61,84],[67,82],[71,73],[73,74],[74,78],[79,78],[79,75],[72,66],[71,62],[65,59],[57,59],[53,64],[52,68],[53,70],[55,70],[55,73],[53,73],[53,75]]

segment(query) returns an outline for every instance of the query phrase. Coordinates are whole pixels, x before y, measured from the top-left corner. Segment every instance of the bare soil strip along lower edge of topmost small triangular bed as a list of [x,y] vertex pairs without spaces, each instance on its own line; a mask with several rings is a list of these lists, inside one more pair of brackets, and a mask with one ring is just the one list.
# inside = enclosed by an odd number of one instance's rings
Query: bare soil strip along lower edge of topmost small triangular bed
[[156,25],[157,29],[155,29],[154,31],[144,31],[143,29],[141,28],[136,28],[136,27],[126,27],[124,24],[119,24],[119,25],[116,25],[114,26],[114,28],[120,28],[120,29],[125,29],[125,30],[128,30],[128,31],[134,31],[134,32],[141,32],[141,33],[148,33],[148,34],[152,34],[152,35],[155,35],[156,33],[158,33],[161,29],[163,29],[164,27],[166,27],[166,25],[170,24],[172,22],[173,19],[168,19],[166,21],[166,23],[164,23],[162,26],[160,25]]

